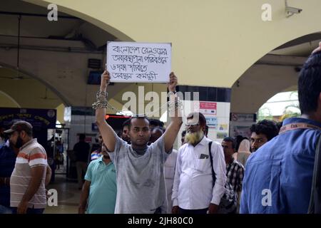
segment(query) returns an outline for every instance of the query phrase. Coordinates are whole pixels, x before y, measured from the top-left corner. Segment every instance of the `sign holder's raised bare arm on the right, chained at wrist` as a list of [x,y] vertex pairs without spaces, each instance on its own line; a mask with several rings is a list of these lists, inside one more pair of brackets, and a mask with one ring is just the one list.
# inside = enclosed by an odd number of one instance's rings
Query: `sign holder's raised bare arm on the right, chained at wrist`
[[[172,72],[170,73],[170,82],[168,83],[168,90],[170,92],[175,92],[175,87],[178,84],[177,77]],[[174,101],[176,95],[174,93],[170,94],[170,101]],[[173,147],[175,139],[178,135],[178,131],[180,130],[180,126],[182,125],[182,116],[180,115],[180,109],[177,108],[175,111],[170,111],[170,125],[166,128],[164,133],[164,145],[165,145],[165,152],[169,152],[170,149]]]

